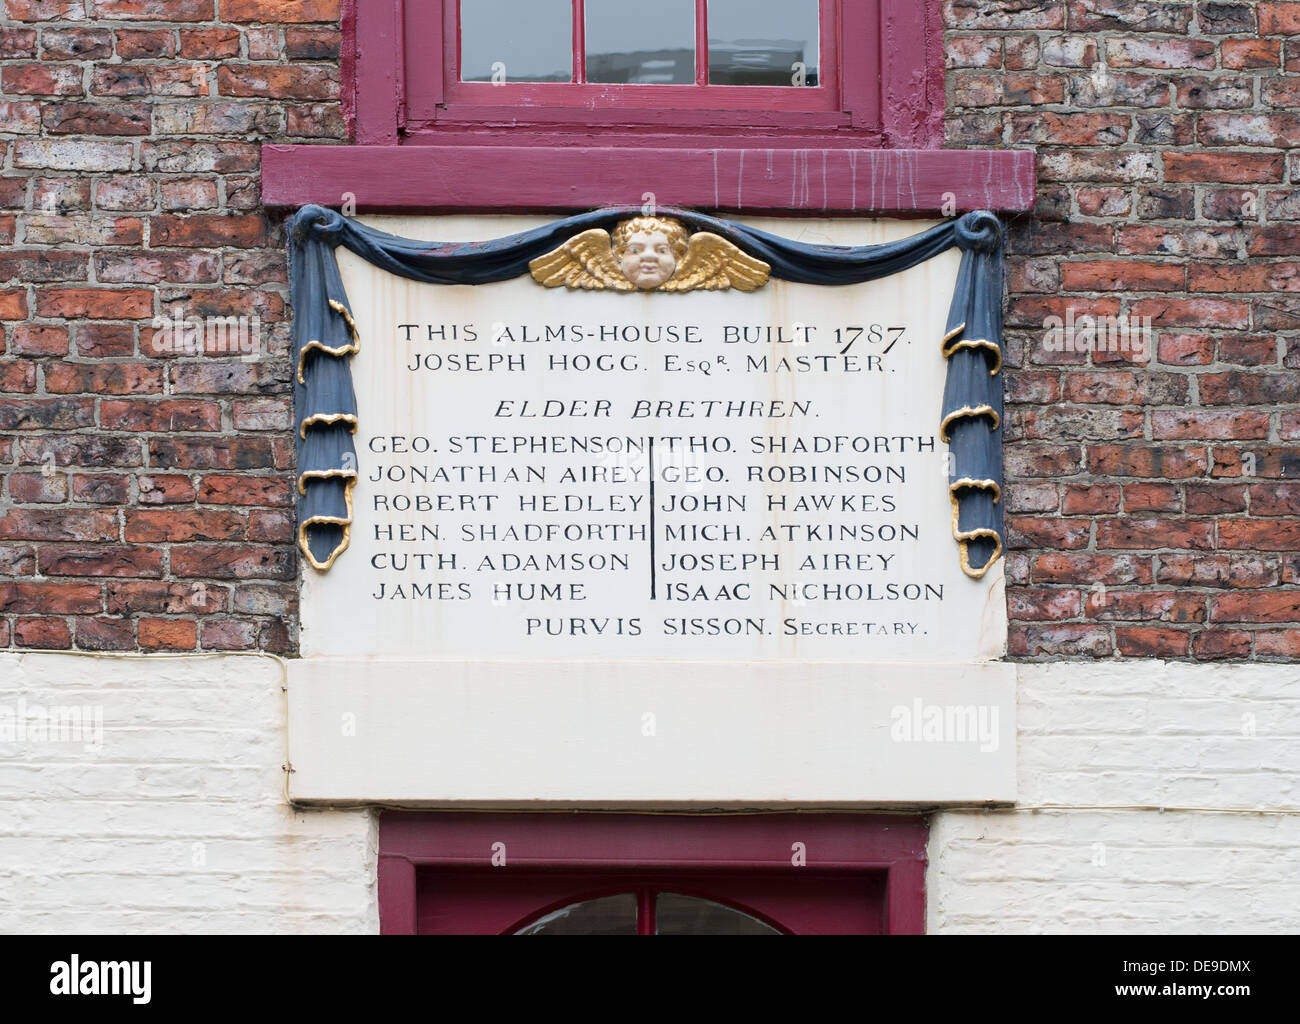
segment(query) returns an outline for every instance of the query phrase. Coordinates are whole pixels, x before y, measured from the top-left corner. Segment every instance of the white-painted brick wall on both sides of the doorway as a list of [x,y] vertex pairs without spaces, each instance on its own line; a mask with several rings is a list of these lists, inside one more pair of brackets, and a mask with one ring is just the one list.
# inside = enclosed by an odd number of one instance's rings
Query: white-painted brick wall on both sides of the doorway
[[[935,815],[931,932],[1300,930],[1295,815],[1028,810],[1295,807],[1300,668],[1019,676],[1022,807]],[[283,802],[273,659],[0,654],[20,698],[104,745],[0,739],[0,932],[377,930],[373,816]]]

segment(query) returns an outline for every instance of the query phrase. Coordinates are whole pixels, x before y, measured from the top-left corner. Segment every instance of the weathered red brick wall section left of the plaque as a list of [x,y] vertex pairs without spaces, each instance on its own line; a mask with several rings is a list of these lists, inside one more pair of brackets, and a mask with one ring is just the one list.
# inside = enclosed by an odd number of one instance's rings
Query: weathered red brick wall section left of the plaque
[[5,0],[0,647],[296,647],[259,144],[342,136],[338,6]]

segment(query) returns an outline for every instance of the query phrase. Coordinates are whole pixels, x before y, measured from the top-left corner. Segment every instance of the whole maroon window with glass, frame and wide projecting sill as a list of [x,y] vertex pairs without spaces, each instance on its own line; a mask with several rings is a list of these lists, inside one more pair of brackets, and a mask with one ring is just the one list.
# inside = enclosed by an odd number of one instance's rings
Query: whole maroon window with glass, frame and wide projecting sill
[[263,201],[1030,209],[1032,151],[942,149],[941,6],[343,0],[352,144],[264,146]]

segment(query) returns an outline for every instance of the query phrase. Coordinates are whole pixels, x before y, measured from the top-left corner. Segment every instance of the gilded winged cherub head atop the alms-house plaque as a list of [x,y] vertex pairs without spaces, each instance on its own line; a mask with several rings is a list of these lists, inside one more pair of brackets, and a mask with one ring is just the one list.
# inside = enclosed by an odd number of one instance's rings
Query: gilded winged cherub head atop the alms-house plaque
[[712,231],[690,234],[671,217],[633,217],[614,229],[573,235],[529,264],[549,288],[610,291],[754,291],[772,272]]

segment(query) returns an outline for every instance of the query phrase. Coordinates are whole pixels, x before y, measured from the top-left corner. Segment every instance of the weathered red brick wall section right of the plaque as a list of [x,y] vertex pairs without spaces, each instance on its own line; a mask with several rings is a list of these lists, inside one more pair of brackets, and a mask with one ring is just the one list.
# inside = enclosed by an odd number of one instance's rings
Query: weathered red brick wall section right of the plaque
[[[1039,152],[1010,235],[1011,654],[1295,658],[1300,3],[944,22],[950,144]],[[1063,346],[1067,311],[1150,317],[1150,344]]]

